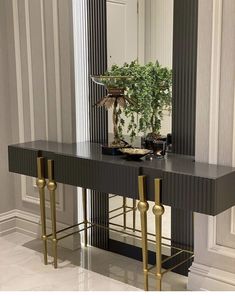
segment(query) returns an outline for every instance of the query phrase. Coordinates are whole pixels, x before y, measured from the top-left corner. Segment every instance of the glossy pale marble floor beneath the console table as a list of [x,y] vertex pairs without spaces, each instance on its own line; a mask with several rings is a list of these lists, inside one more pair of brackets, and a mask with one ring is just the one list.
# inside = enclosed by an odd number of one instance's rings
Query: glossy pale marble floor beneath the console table
[[[50,250],[49,250],[50,254]],[[41,241],[22,233],[0,237],[1,291],[138,291],[142,264],[94,247],[71,251],[59,247],[59,268],[43,265]],[[51,261],[49,257],[49,261]],[[169,273],[163,290],[185,291],[187,278]],[[155,281],[150,278],[150,290]]]

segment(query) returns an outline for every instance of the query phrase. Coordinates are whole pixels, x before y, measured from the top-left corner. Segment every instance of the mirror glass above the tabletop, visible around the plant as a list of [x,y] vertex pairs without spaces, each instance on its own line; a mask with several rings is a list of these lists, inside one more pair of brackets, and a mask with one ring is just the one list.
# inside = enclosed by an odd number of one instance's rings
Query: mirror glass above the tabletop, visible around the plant
[[[109,69],[113,65],[122,67],[124,63],[130,64],[133,61],[138,61],[142,66],[158,61],[162,68],[171,70],[172,44],[173,0],[107,0]],[[136,72],[135,69],[134,72]],[[144,104],[141,107],[143,108]],[[171,112],[169,112],[169,104],[166,106],[163,104],[160,107],[163,114],[159,133],[166,136],[171,132]],[[128,132],[128,127],[131,115],[129,118],[125,118],[124,115],[124,120],[123,134],[130,135],[131,131]],[[142,129],[137,131],[137,134],[143,135],[149,131],[151,128]],[[111,110],[109,111],[109,132],[113,132]]]

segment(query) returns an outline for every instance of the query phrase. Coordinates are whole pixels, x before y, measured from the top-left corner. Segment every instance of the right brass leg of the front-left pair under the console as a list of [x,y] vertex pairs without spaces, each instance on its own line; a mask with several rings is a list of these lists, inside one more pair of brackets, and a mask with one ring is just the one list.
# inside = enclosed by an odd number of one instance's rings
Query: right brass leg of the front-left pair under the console
[[54,257],[54,268],[57,268],[57,236],[56,236],[56,182],[54,181],[54,161],[48,160],[48,184],[51,203],[51,224],[52,224],[52,252]]

